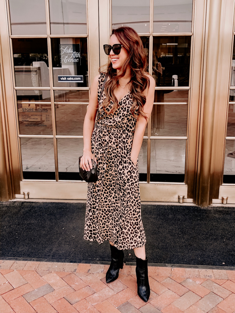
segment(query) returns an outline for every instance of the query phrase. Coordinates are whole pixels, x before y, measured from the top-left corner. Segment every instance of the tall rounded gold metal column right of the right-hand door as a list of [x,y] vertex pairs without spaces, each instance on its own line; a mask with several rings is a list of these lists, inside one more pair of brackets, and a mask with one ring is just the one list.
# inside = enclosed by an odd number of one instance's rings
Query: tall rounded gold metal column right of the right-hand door
[[[212,202],[212,146],[215,115],[217,65],[219,54],[219,33],[221,19],[221,0],[212,0],[208,3],[208,41],[205,65],[205,97],[203,107],[203,121],[201,125],[201,164],[199,178],[198,204],[208,206]],[[200,152],[200,151],[199,151]]]

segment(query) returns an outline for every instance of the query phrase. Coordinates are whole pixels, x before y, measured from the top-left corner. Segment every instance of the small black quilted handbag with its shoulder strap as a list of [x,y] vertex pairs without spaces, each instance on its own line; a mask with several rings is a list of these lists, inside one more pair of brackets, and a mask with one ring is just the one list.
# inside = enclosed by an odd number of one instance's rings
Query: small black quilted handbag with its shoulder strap
[[[102,96],[102,93],[103,93],[103,90],[104,90],[104,85],[106,83],[107,78],[108,78],[108,75],[106,74],[105,79],[104,79],[104,83],[103,83],[103,86],[102,86],[102,90],[101,90],[101,93],[100,93],[100,99],[101,99],[101,96]],[[99,102],[100,102],[100,99],[99,99]],[[97,123],[96,123],[96,126],[97,126]],[[96,135],[97,135],[97,130],[96,130]],[[96,137],[95,137],[95,148],[96,148]],[[93,159],[92,159],[92,169],[90,171],[86,171],[86,170],[83,170],[81,168],[81,157],[82,157],[82,155],[79,157],[79,161],[78,161],[78,164],[79,164],[79,174],[80,174],[81,179],[85,180],[86,182],[97,182],[97,180],[98,180],[97,164],[96,164],[96,162],[94,160],[95,159],[95,149],[94,149]]]

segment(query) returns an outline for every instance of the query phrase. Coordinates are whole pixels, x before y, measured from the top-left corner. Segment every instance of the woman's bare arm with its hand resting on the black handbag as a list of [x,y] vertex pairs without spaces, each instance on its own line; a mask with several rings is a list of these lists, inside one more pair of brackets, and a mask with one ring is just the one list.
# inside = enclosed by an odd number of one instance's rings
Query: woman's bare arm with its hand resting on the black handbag
[[98,79],[99,74],[94,78],[91,85],[89,105],[83,124],[83,156],[81,158],[81,167],[83,170],[85,169],[86,171],[90,171],[90,169],[92,168],[93,154],[91,153],[91,135],[94,129],[98,108]]

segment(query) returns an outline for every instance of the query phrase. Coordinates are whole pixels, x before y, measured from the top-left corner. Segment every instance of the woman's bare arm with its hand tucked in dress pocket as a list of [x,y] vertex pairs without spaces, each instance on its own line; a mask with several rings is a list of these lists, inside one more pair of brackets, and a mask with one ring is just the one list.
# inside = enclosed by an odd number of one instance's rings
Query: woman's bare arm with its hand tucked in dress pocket
[[155,92],[155,80],[152,76],[149,77],[149,89],[144,91],[144,95],[146,96],[146,102],[144,105],[144,113],[147,115],[147,121],[144,117],[139,116],[135,125],[135,133],[133,137],[132,149],[131,149],[131,160],[134,164],[137,163],[138,154],[143,142],[144,131],[146,125],[149,121],[149,117],[151,115],[153,104],[154,104],[154,92]]

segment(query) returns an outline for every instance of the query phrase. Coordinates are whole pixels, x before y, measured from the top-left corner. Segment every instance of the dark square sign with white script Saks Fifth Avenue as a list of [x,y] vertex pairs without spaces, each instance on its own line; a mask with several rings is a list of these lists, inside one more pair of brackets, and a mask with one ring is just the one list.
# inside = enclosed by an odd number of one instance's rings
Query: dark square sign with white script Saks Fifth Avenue
[[80,44],[60,44],[60,63],[61,65],[69,63],[81,65]]

